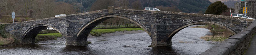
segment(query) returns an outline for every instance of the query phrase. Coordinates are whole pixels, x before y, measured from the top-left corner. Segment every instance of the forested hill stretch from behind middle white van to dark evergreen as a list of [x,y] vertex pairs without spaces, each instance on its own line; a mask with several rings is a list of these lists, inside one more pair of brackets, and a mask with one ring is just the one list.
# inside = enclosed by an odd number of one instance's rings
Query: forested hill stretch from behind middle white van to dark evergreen
[[182,12],[205,12],[210,4],[209,0],[142,0],[144,7],[176,6]]

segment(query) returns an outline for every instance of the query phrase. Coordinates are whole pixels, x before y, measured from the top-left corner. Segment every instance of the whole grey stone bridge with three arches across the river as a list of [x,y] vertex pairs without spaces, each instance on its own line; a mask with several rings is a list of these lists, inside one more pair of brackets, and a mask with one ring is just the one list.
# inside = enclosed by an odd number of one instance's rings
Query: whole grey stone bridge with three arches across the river
[[68,46],[87,45],[90,31],[109,18],[123,18],[134,22],[150,35],[150,47],[172,45],[172,37],[181,29],[195,24],[214,24],[236,34],[246,29],[253,20],[211,14],[194,14],[168,11],[108,9],[5,24],[7,32],[23,44],[34,43],[36,35],[44,28],[56,29],[66,38]]

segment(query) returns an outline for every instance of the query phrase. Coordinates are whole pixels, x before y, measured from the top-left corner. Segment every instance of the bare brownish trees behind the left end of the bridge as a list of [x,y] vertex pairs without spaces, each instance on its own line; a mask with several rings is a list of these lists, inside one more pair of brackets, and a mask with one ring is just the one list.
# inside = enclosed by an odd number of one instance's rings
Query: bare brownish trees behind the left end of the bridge
[[0,14],[25,16],[27,10],[33,10],[33,18],[50,18],[56,14],[76,14],[78,9],[66,2],[56,0],[0,0]]

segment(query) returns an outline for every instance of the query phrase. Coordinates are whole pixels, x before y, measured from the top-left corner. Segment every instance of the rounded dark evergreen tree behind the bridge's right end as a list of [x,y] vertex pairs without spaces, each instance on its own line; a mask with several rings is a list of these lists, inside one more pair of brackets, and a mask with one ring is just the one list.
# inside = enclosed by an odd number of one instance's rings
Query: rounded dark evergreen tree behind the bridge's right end
[[221,1],[217,1],[214,2],[213,4],[211,4],[205,14],[216,14],[216,15],[220,15],[222,12],[224,12],[225,10],[228,9],[228,6],[226,6],[224,3],[222,3]]

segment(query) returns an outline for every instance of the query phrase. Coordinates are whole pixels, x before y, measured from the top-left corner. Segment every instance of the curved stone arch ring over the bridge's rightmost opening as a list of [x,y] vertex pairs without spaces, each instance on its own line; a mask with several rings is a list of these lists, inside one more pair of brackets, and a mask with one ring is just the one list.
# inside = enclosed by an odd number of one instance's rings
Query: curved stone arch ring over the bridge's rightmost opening
[[[227,29],[228,31],[230,31],[230,32],[233,33],[233,34],[237,34],[237,32],[236,32],[234,29],[229,28],[228,26],[226,26],[226,25],[224,25],[224,24],[220,24],[220,23],[218,23],[218,22],[214,22],[214,21],[196,21],[196,22],[187,23],[186,25],[183,25],[183,26],[180,26],[179,28],[176,28],[174,31],[172,31],[172,33],[170,33],[170,34],[168,35],[168,39],[172,39],[172,37],[173,37],[176,33],[178,33],[180,30],[182,30],[182,29],[184,29],[184,28],[186,28],[186,27],[188,27],[188,26],[195,25],[195,24],[214,24],[214,25],[217,25],[217,26],[220,26],[220,27],[222,27],[222,28]],[[171,41],[171,40],[169,40],[169,41]]]

